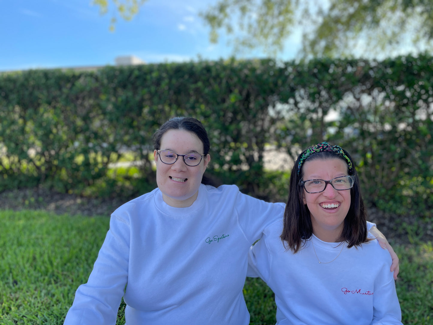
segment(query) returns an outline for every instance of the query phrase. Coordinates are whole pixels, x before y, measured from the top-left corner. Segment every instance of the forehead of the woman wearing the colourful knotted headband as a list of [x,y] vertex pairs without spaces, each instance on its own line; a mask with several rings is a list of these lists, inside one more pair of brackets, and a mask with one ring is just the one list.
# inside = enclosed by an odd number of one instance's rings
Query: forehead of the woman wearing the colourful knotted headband
[[329,179],[331,179],[337,176],[347,175],[348,172],[349,167],[347,163],[338,158],[307,160],[304,162],[303,166],[304,179],[310,179],[311,177],[330,177]]

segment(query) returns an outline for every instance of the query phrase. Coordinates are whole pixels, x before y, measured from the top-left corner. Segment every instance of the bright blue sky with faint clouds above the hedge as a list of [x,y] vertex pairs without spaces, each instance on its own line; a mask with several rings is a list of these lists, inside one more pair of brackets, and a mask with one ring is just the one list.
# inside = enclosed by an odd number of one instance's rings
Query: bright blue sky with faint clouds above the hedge
[[[158,63],[233,54],[224,36],[218,44],[209,42],[198,16],[216,0],[148,0],[132,21],[118,17],[114,32],[113,8],[101,16],[90,1],[0,0],[0,71],[114,65],[123,55]],[[294,58],[299,43],[297,35],[288,39],[281,58]]]

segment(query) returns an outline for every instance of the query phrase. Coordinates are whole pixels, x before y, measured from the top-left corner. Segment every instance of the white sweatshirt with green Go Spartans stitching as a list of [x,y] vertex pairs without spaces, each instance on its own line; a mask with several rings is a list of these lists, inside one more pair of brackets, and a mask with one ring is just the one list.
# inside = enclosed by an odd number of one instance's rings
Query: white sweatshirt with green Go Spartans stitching
[[167,205],[158,188],[127,202],[65,324],[114,325],[122,296],[127,325],[249,324],[249,247],[283,212],[234,185],[200,185],[187,208]]

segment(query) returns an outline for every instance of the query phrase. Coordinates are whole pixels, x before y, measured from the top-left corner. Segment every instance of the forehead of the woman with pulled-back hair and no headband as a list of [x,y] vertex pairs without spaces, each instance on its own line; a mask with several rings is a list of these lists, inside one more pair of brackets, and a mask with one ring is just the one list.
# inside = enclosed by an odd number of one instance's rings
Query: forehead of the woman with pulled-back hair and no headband
[[[161,149],[180,151],[203,151],[203,143],[195,133],[185,130],[168,130],[161,138]],[[180,153],[180,152],[178,152]]]

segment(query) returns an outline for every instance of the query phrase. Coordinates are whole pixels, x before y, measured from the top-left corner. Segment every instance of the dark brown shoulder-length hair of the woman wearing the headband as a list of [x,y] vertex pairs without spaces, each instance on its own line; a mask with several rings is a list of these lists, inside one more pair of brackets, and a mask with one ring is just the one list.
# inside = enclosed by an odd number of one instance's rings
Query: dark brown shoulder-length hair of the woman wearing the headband
[[[283,231],[280,236],[284,247],[286,247],[287,250],[292,250],[294,253],[297,253],[297,251],[307,243],[307,240],[310,240],[313,234],[310,211],[303,201],[304,188],[299,185],[299,182],[303,180],[304,177],[304,163],[301,166],[299,176],[297,175],[299,160],[307,149],[297,157],[290,175],[289,196],[284,210]],[[344,149],[343,151],[353,164],[353,159],[350,157],[349,153]],[[343,158],[343,156],[331,151],[313,153],[305,161],[335,158],[343,160],[347,165],[347,160]],[[353,166],[352,174],[355,176],[355,183],[350,189],[350,207],[344,219],[343,232],[341,234],[341,240],[346,241],[348,248],[352,246],[357,247],[369,241],[367,238],[368,230],[365,207],[355,166]]]

